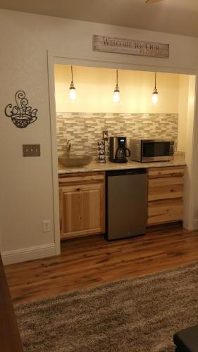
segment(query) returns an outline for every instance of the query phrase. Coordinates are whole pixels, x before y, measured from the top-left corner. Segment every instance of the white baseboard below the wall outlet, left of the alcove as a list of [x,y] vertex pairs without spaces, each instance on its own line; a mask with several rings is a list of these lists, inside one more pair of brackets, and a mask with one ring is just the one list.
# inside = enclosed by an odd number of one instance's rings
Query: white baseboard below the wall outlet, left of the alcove
[[56,249],[54,243],[1,252],[1,257],[4,265],[20,263],[27,260],[34,260],[55,255]]

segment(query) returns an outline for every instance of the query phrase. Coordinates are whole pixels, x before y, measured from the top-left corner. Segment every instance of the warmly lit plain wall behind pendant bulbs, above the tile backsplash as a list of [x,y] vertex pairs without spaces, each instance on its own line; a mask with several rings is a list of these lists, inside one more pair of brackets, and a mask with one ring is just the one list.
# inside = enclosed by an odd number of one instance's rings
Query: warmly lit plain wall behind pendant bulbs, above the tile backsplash
[[70,101],[69,65],[55,65],[57,112],[82,113],[178,113],[180,75],[157,73],[159,101],[152,103],[154,73],[118,70],[120,103],[113,103],[116,70],[73,66],[73,82],[77,99]]

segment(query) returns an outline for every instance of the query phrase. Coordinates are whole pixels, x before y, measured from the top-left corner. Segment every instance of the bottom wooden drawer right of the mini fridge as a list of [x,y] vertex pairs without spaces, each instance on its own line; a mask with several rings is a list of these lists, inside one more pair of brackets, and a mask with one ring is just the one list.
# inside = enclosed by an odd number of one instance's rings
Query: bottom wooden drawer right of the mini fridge
[[148,202],[147,225],[182,220],[182,199],[167,199]]

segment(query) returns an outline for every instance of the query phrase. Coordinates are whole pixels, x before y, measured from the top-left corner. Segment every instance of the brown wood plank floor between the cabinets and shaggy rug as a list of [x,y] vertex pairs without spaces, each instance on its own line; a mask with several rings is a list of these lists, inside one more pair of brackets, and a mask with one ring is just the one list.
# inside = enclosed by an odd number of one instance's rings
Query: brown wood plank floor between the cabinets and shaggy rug
[[177,225],[111,242],[101,235],[70,239],[61,256],[6,265],[5,271],[13,303],[25,303],[197,260],[198,231]]

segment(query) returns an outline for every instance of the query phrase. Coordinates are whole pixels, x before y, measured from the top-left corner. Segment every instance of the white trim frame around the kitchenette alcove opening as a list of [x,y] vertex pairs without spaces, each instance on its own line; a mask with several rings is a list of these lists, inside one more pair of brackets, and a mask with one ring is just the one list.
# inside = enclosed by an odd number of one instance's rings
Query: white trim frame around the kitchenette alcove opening
[[[118,56],[119,58],[119,56]],[[56,147],[56,103],[55,103],[55,81],[54,81],[54,65],[79,65],[97,68],[118,68],[123,70],[142,70],[150,72],[162,72],[162,73],[178,73],[186,75],[194,75],[194,101],[191,102],[191,118],[190,123],[187,126],[188,136],[192,136],[187,141],[187,172],[185,176],[185,213],[184,213],[184,226],[188,230],[193,230],[195,225],[194,222],[194,186],[196,184],[196,172],[193,165],[195,164],[197,153],[195,151],[195,145],[198,145],[198,123],[196,115],[196,101],[197,96],[197,70],[191,70],[188,68],[172,68],[163,67],[159,65],[137,65],[130,63],[123,63],[122,61],[102,61],[101,58],[96,60],[94,58],[87,58],[83,55],[65,54],[59,55],[47,51],[48,61],[48,74],[49,74],[49,109],[50,109],[50,125],[51,125],[51,162],[52,162],[52,178],[53,178],[53,194],[54,194],[54,241],[55,241],[55,253],[60,253],[60,227],[59,227],[59,197],[58,197],[58,154]],[[198,105],[197,105],[198,106]],[[194,108],[194,110],[193,110]],[[193,111],[192,111],[193,110]],[[197,142],[197,143],[195,143]],[[197,220],[198,225],[198,220]]]

